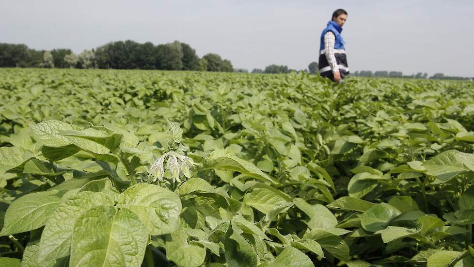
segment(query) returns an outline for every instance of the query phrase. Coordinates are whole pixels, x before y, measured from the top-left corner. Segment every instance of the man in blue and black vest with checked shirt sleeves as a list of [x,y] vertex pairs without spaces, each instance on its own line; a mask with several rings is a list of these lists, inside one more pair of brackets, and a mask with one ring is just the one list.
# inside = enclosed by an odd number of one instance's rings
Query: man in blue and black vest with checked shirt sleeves
[[348,13],[344,9],[338,9],[332,13],[332,19],[321,33],[319,47],[319,74],[331,79],[333,82],[341,83],[349,74],[344,39],[342,38],[342,26],[346,23]]

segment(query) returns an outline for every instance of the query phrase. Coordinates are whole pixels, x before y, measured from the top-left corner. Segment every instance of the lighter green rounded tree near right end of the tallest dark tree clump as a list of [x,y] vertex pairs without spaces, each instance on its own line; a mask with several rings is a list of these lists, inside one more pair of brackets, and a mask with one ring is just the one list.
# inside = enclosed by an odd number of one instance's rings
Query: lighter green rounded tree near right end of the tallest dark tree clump
[[183,48],[178,41],[165,45],[158,45],[156,48],[158,69],[180,70],[183,68]]

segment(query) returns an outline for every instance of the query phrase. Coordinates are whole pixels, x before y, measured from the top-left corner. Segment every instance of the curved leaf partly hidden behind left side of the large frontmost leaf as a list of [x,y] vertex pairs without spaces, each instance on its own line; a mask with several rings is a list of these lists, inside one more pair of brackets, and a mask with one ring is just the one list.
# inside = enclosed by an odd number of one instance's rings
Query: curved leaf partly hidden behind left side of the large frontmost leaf
[[71,237],[76,220],[97,206],[113,205],[103,193],[80,192],[61,202],[49,217],[41,235],[38,260],[43,262],[69,255]]

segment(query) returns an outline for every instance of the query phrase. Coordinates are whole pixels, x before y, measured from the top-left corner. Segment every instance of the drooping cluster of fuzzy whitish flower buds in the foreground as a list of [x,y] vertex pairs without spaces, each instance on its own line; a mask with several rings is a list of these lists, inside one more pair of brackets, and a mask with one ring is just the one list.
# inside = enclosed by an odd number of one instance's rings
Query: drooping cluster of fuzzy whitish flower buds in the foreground
[[188,156],[169,151],[159,157],[150,167],[148,178],[153,178],[153,182],[157,181],[157,179],[163,181],[163,175],[165,173],[164,162],[166,158],[168,158],[166,161],[166,168],[170,171],[173,179],[177,182],[181,182],[179,179],[180,173],[183,173],[187,178],[191,178],[192,174],[190,169],[198,165]]

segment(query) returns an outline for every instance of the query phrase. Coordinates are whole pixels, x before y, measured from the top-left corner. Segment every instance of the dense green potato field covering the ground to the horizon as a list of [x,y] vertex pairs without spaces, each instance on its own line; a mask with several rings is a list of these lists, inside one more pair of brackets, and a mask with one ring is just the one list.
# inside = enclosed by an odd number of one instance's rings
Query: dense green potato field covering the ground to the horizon
[[473,83],[0,76],[1,266],[474,264]]

